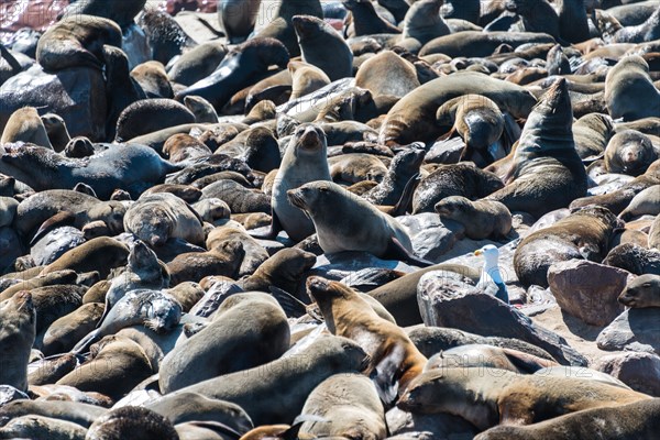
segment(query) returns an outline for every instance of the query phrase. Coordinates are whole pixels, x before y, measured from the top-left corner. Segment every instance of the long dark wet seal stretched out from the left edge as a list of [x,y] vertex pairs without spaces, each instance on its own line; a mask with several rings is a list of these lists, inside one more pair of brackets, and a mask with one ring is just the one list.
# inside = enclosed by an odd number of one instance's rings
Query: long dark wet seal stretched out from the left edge
[[107,200],[118,188],[135,195],[145,185],[161,183],[166,174],[178,169],[148,146],[106,145],[107,150],[90,157],[67,158],[36,145],[6,144],[0,173],[14,176],[37,191],[68,189],[84,183]]

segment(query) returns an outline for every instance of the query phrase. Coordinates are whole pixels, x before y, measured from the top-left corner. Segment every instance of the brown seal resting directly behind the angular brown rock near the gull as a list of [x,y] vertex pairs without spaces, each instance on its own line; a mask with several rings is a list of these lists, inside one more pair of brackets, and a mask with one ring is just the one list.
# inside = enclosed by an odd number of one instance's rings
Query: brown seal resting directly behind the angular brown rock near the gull
[[548,268],[558,261],[586,258],[601,262],[624,223],[612,212],[590,206],[557,223],[527,235],[514,254],[514,268],[525,286],[548,286]]

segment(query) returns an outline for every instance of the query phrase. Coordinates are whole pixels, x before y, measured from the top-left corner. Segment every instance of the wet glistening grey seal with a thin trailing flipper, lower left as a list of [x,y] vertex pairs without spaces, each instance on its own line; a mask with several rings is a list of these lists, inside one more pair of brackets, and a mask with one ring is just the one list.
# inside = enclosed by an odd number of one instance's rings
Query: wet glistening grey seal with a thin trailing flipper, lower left
[[90,343],[131,326],[145,326],[156,333],[172,331],[182,318],[182,306],[169,294],[138,289],[127,293],[106,314],[98,328],[82,338],[72,350],[82,353]]

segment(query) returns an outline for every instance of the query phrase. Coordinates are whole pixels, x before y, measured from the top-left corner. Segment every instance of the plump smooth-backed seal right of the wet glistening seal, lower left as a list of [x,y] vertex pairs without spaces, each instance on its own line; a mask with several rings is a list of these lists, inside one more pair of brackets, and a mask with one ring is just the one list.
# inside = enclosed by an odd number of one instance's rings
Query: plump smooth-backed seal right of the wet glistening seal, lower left
[[289,327],[279,305],[265,294],[238,295],[249,298],[229,309],[220,306],[207,328],[163,359],[162,393],[265,364],[288,350]]

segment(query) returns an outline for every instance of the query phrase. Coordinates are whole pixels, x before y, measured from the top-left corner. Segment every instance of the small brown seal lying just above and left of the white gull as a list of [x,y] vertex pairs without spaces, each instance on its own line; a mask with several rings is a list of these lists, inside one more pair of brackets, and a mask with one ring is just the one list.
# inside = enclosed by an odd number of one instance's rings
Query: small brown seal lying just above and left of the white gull
[[512,230],[512,213],[495,200],[476,200],[461,196],[446,197],[436,204],[436,212],[465,227],[465,235],[472,240],[504,238]]

